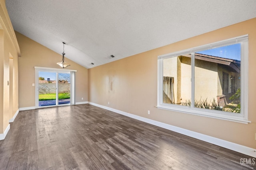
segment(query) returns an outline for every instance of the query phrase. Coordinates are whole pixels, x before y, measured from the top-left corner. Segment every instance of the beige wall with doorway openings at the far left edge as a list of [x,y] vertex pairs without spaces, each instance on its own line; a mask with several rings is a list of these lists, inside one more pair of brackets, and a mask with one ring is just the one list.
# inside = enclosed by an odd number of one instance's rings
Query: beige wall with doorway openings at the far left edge
[[0,134],[4,133],[9,119],[18,111],[17,70],[20,49],[10,23],[5,1],[0,0]]

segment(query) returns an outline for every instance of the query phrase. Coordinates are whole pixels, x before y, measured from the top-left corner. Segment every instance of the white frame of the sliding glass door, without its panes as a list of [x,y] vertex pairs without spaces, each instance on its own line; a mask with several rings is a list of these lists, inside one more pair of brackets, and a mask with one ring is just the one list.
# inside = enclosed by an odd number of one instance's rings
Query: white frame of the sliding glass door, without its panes
[[[61,68],[48,68],[48,67],[38,67],[35,66],[35,82],[36,82],[36,88],[35,88],[35,100],[36,100],[36,109],[37,108],[43,108],[43,107],[55,107],[55,106],[66,106],[66,105],[74,105],[76,103],[75,100],[75,83],[76,83],[76,72],[77,70],[68,70],[68,69],[61,69]],[[39,101],[38,101],[38,78],[39,78],[39,71],[43,72],[56,72],[56,73],[70,73],[70,104],[61,104],[59,105],[58,102],[56,102],[56,105],[50,105],[50,106],[39,106]],[[56,80],[58,80],[58,74],[56,76]],[[58,84],[56,84],[56,98],[58,99]]]

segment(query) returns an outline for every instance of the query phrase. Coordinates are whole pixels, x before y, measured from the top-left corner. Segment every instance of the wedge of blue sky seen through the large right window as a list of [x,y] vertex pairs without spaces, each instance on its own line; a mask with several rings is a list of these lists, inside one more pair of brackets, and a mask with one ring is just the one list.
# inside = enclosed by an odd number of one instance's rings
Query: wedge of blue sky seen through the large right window
[[214,49],[209,49],[209,50],[204,50],[204,51],[198,51],[196,53],[241,61],[240,43],[232,44],[224,47],[218,47]]

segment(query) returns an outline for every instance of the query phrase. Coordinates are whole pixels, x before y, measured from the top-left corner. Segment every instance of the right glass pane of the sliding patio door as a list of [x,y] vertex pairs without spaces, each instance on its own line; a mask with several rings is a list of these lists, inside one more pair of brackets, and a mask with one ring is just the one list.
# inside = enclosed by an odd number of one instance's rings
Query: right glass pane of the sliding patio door
[[58,104],[70,104],[70,73],[58,73]]

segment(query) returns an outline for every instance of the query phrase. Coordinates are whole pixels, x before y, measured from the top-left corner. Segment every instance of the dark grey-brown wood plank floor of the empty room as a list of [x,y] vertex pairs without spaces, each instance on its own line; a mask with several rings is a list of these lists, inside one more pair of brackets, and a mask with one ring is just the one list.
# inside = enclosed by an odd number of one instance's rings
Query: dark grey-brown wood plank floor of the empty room
[[235,170],[252,158],[89,104],[20,111],[0,168]]

